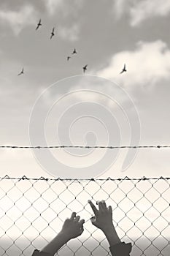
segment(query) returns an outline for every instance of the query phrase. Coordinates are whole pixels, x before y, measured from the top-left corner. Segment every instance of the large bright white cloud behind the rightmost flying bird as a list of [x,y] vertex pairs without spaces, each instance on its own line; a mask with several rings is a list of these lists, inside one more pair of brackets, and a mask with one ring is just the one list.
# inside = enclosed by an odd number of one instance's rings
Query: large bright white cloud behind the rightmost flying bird
[[[124,63],[127,72],[120,75]],[[170,49],[161,40],[138,42],[135,50],[122,51],[112,56],[108,67],[98,71],[97,75],[128,87],[150,87],[158,81],[169,79]]]

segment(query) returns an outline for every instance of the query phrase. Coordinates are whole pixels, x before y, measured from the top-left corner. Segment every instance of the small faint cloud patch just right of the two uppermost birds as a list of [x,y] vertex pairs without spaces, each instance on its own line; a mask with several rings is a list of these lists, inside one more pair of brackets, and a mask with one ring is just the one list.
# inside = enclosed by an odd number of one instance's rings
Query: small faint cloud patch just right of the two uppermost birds
[[58,34],[61,38],[69,40],[69,41],[77,41],[79,38],[79,26],[74,24],[71,27],[60,27],[58,30]]

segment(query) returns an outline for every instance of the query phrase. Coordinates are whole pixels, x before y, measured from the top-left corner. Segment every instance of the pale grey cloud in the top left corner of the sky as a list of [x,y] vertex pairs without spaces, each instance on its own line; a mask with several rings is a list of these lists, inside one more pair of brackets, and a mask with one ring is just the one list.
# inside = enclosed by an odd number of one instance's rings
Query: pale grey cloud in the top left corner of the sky
[[28,25],[35,24],[36,12],[31,5],[20,7],[20,10],[0,10],[0,20],[11,27],[15,35]]

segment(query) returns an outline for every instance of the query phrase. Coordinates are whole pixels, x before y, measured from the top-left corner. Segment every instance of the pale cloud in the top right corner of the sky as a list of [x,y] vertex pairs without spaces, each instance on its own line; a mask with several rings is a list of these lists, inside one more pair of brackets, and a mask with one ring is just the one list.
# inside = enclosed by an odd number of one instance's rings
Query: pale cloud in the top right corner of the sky
[[153,17],[163,17],[170,12],[170,1],[160,0],[120,0],[114,2],[115,17],[120,18],[128,14],[131,26],[139,26],[144,20]]

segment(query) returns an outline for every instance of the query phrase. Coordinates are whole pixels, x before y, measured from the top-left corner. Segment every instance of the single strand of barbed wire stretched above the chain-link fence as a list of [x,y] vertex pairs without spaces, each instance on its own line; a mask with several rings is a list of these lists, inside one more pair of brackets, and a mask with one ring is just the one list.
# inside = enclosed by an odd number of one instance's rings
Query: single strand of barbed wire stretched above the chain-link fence
[[0,146],[0,148],[170,148],[170,145],[144,145],[144,146]]

